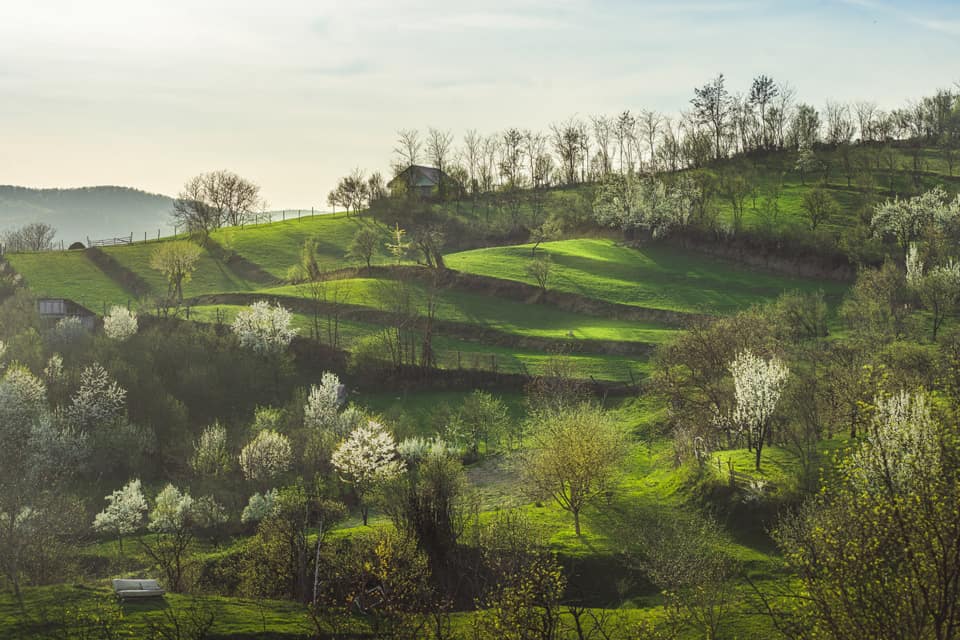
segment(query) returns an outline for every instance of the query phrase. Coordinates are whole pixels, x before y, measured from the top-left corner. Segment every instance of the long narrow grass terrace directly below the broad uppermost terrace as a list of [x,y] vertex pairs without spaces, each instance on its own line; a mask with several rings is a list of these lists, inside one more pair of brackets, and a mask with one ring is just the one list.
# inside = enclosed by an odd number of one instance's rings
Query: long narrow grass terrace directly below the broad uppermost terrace
[[[339,287],[343,302],[347,304],[385,309],[384,301],[390,299],[391,291],[396,291],[398,285],[393,280],[354,278],[338,280],[336,286]],[[425,287],[416,283],[408,286],[414,308],[425,308]],[[295,285],[265,289],[263,293],[293,297],[302,295]],[[599,318],[562,311],[549,305],[524,304],[455,289],[442,289],[439,292],[436,318],[538,338],[659,344],[670,340],[677,332],[674,328],[653,322]]]

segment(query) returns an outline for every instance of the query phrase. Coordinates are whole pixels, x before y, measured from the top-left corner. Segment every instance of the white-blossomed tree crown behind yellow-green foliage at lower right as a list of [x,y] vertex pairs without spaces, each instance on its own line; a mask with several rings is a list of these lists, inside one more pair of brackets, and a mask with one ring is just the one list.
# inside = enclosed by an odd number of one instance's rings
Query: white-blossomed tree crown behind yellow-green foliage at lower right
[[908,492],[920,478],[940,473],[940,449],[926,396],[900,391],[874,400],[866,438],[851,456],[864,486]]

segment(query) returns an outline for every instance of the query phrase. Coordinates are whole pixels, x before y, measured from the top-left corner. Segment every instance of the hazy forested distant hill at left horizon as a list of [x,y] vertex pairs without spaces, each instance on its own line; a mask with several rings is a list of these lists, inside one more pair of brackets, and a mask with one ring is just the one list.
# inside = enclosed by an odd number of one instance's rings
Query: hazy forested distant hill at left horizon
[[28,222],[46,222],[56,240],[69,244],[125,236],[170,233],[171,198],[128,187],[31,189],[0,185],[0,231]]

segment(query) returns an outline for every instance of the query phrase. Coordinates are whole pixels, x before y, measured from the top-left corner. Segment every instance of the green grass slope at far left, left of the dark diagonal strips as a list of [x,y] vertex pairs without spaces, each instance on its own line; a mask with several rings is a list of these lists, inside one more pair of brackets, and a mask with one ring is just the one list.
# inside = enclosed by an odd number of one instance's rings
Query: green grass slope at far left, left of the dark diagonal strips
[[12,253],[7,259],[38,296],[68,298],[95,313],[103,313],[110,305],[125,305],[134,297],[83,251]]

